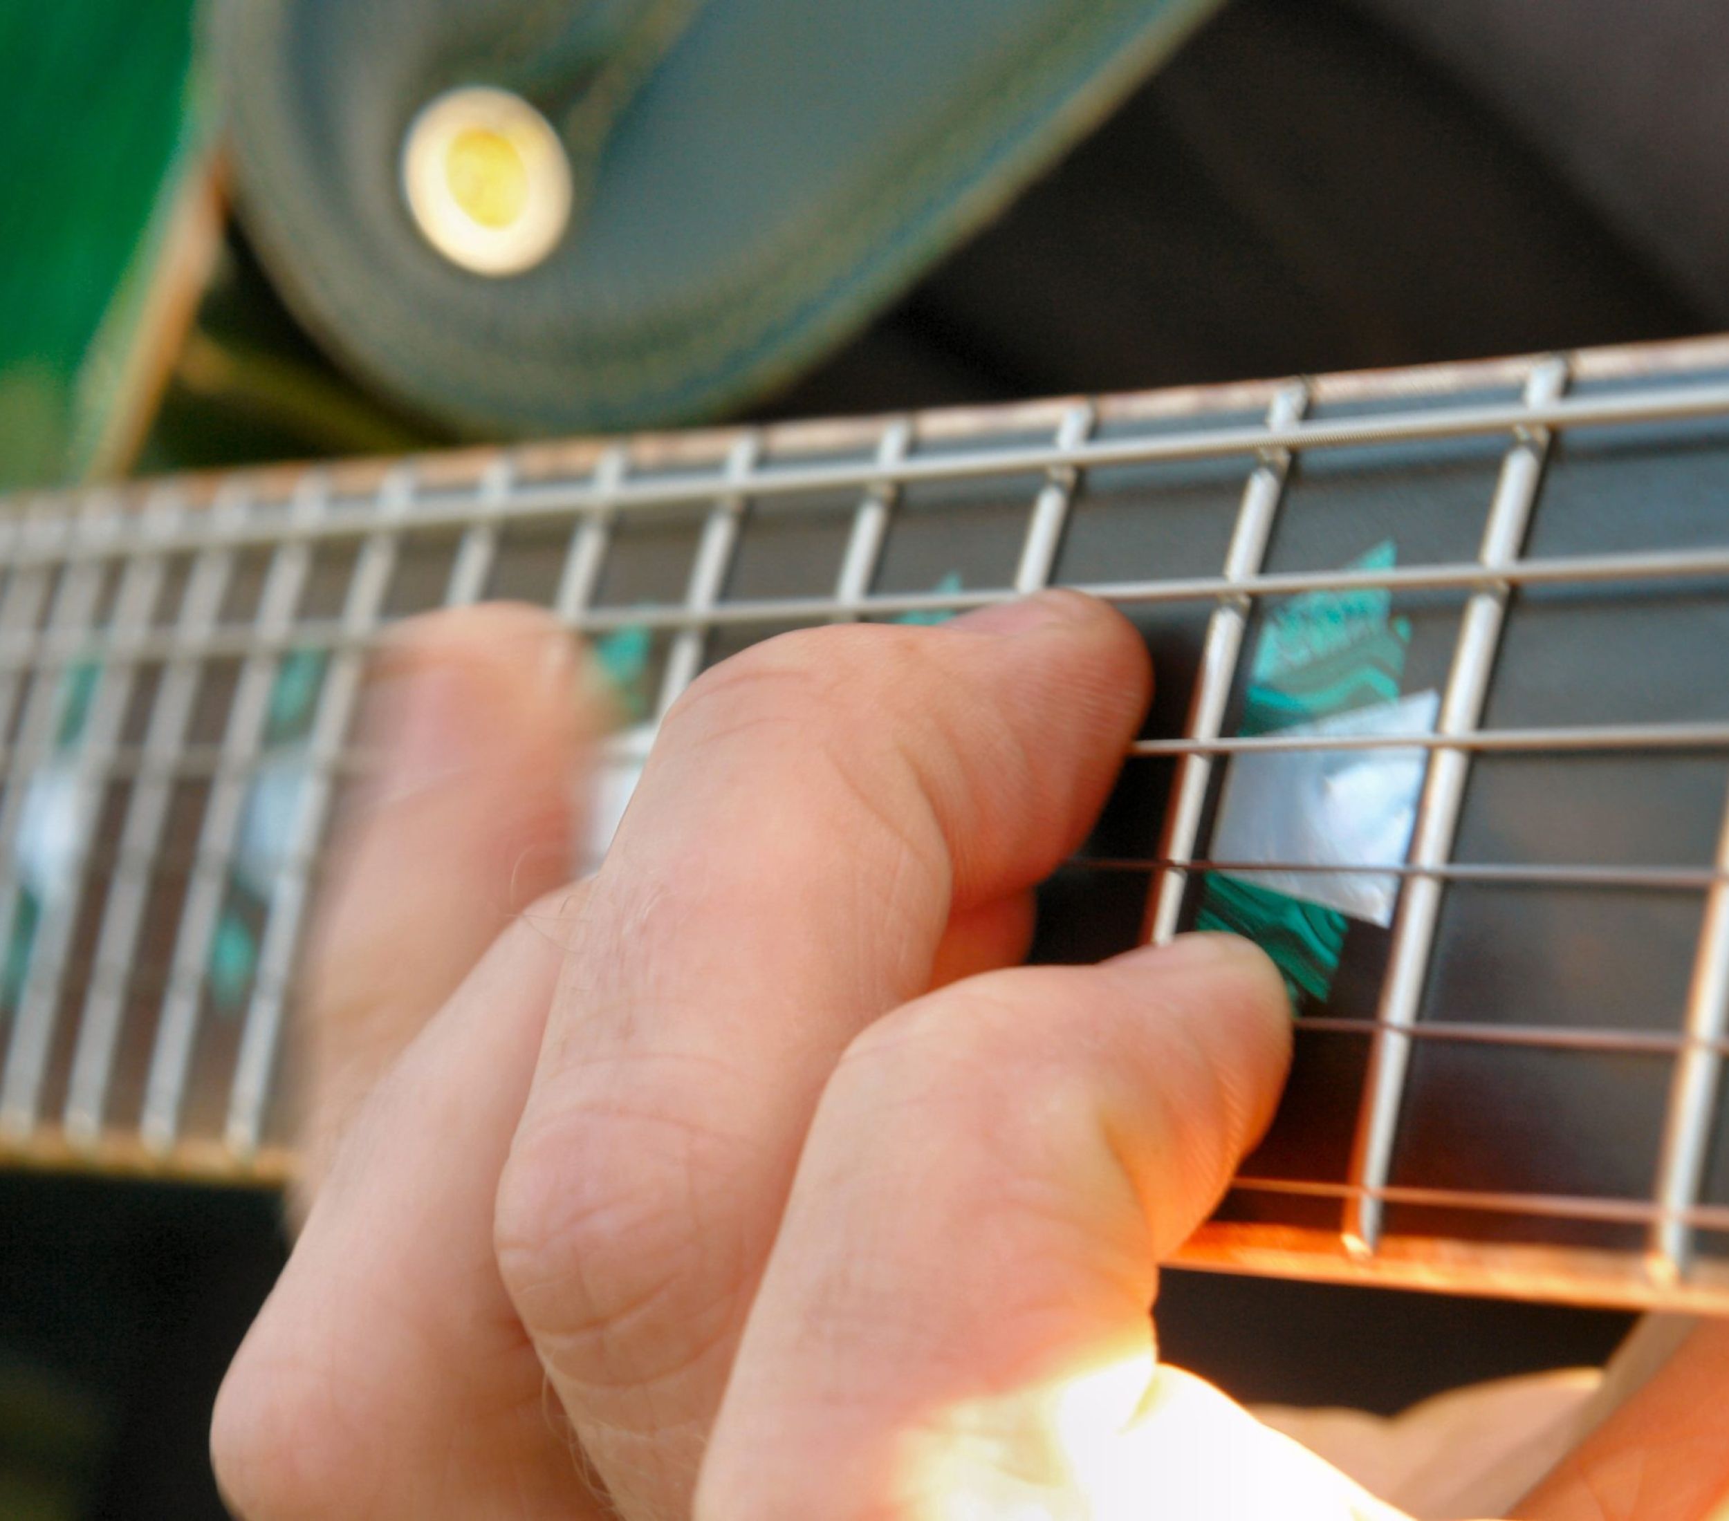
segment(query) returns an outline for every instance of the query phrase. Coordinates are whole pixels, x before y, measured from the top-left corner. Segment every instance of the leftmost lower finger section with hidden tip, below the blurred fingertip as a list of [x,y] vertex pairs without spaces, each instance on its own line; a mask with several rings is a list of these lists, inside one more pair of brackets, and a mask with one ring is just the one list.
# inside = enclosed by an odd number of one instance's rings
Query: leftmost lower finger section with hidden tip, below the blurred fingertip
[[571,911],[507,930],[344,1137],[216,1400],[211,1459],[246,1521],[610,1514],[491,1253]]

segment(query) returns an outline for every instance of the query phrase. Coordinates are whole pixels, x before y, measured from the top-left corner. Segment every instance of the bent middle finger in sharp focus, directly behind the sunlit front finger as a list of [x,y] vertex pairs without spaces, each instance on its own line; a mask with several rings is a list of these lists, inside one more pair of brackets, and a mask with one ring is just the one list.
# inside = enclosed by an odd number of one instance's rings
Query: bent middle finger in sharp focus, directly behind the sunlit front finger
[[555,999],[500,1263],[626,1514],[683,1518],[821,1085],[956,920],[1084,837],[1146,703],[1089,598],[1030,629],[790,634],[705,674]]

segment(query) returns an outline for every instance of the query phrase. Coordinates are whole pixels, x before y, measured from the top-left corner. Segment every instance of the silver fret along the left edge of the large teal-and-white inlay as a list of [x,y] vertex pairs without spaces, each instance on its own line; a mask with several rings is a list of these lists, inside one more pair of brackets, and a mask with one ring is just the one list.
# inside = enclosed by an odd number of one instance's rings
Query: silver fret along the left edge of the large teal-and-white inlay
[[[1309,387],[1302,384],[1283,387],[1267,408],[1267,429],[1278,432],[1297,422],[1309,406]],[[1236,512],[1236,527],[1224,555],[1224,579],[1241,582],[1259,574],[1267,543],[1273,538],[1273,520],[1285,498],[1285,477],[1290,474],[1290,451],[1273,449],[1262,455],[1243,486],[1243,501]],[[1241,659],[1243,633],[1248,627],[1252,603],[1238,596],[1221,600],[1207,619],[1207,638],[1202,645],[1200,669],[1195,672],[1195,693],[1190,698],[1186,736],[1191,741],[1219,738],[1224,726],[1224,709],[1231,700],[1236,665]],[[1148,902],[1145,937],[1155,945],[1169,944],[1183,914],[1183,894],[1188,887],[1184,859],[1193,854],[1200,833],[1200,816],[1207,802],[1207,783],[1212,778],[1212,759],[1203,750],[1188,750],[1177,762],[1171,783],[1171,802],[1165,807],[1164,842],[1160,854],[1169,866],[1160,871]]]

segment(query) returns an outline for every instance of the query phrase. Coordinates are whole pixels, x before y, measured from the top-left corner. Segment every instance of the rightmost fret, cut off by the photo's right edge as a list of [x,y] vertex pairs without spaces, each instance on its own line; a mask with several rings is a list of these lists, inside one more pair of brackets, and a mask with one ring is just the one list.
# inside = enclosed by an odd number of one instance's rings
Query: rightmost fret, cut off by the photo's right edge
[[1651,1234],[1655,1269],[1679,1277],[1693,1255],[1693,1232],[1681,1210],[1700,1198],[1719,1111],[1722,1041],[1729,1034],[1729,799],[1717,840],[1717,871],[1705,902],[1688,987],[1686,1034],[1693,1044],[1675,1063],[1658,1160],[1655,1196],[1668,1213]]

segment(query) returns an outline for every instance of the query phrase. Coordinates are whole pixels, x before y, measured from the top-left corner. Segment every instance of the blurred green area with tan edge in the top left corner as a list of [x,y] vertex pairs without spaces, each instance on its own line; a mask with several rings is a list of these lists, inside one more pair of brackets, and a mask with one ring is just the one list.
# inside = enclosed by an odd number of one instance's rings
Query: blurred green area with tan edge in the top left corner
[[214,239],[194,0],[0,0],[0,487],[107,474]]

